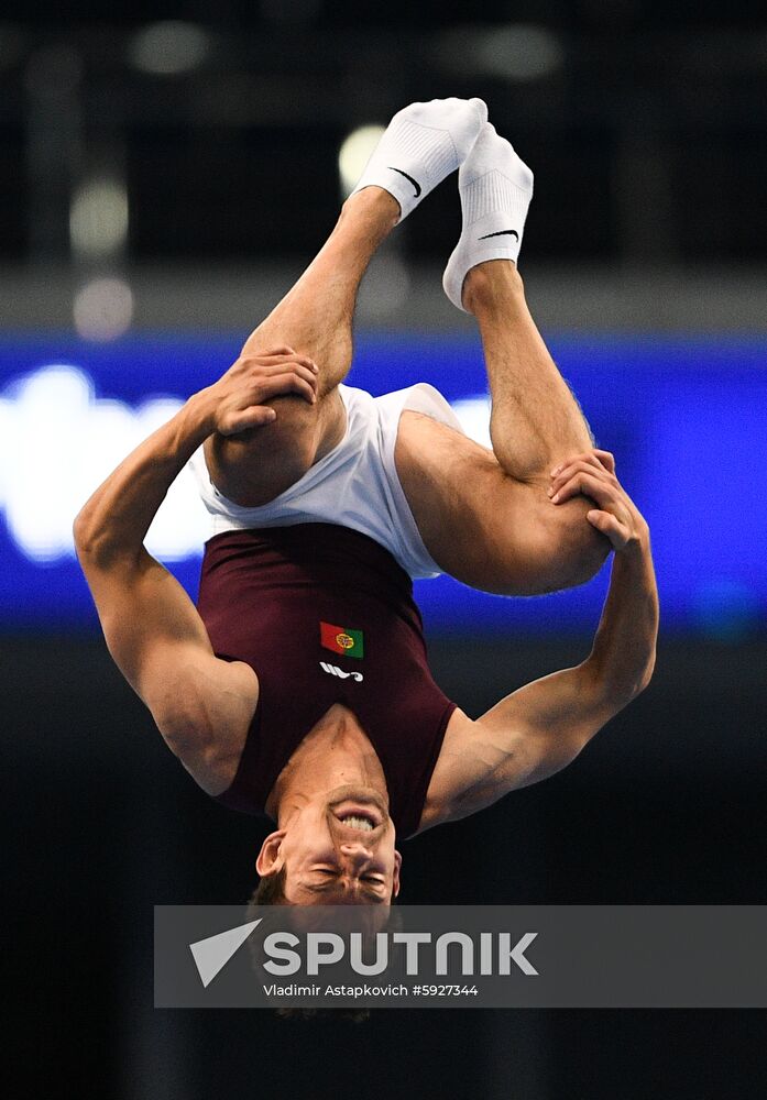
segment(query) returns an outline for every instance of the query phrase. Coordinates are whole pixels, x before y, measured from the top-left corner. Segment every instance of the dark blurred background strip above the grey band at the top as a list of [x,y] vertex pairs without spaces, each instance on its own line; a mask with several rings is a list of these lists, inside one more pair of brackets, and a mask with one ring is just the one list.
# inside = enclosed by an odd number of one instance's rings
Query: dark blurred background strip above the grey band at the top
[[[484,98],[535,166],[528,263],[759,262],[767,251],[756,0],[474,9],[176,0],[161,10],[67,4],[55,20],[36,3],[7,18],[0,248],[9,257],[30,244],[64,253],[64,219],[57,242],[51,222],[67,180],[106,166],[130,190],[134,262],[304,256],[335,216],[343,136],[445,95]],[[174,75],[141,62],[146,28],[171,19],[204,34],[197,63]],[[45,120],[56,147],[46,148]],[[408,223],[408,252],[441,257],[457,228],[443,188]]]

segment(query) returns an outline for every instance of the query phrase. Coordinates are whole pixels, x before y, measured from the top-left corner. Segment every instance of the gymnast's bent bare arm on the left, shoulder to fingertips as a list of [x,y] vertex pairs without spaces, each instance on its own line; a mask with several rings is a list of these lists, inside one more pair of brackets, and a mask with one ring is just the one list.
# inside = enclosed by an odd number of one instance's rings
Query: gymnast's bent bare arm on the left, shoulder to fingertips
[[291,349],[238,360],[129,454],[75,519],[77,556],[109,651],[193,772],[206,755],[226,749],[221,732],[246,729],[258,682],[248,666],[215,657],[193,602],[143,541],[208,436],[269,424],[275,413],[264,402],[286,393],[311,402],[315,392],[313,365]]

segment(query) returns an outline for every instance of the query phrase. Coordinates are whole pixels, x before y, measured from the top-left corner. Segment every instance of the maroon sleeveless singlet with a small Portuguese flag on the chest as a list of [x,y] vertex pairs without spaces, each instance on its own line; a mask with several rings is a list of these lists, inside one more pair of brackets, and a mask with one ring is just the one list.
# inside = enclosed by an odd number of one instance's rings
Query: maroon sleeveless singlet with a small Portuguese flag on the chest
[[217,657],[250,664],[260,684],[218,801],[263,814],[306,734],[343,703],[381,760],[397,835],[415,833],[456,704],[431,678],[413,583],[392,554],[332,524],[223,531],[205,547],[198,609]]

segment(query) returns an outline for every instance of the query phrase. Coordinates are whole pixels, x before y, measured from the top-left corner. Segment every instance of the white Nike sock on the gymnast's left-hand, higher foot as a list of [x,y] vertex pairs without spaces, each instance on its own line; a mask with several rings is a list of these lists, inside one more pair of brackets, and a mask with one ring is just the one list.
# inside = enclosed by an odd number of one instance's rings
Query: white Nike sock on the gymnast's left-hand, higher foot
[[462,163],[487,108],[481,99],[432,99],[397,111],[352,191],[383,187],[399,204],[399,221]]

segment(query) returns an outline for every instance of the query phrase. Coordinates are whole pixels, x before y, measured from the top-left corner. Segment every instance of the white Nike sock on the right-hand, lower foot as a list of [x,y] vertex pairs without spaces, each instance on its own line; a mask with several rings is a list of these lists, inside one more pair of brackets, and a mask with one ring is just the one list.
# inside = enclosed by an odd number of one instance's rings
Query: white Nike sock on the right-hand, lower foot
[[517,262],[533,198],[533,173],[495,127],[485,122],[458,174],[458,188],[463,229],[442,286],[453,306],[463,309],[463,280],[472,267],[485,260]]

